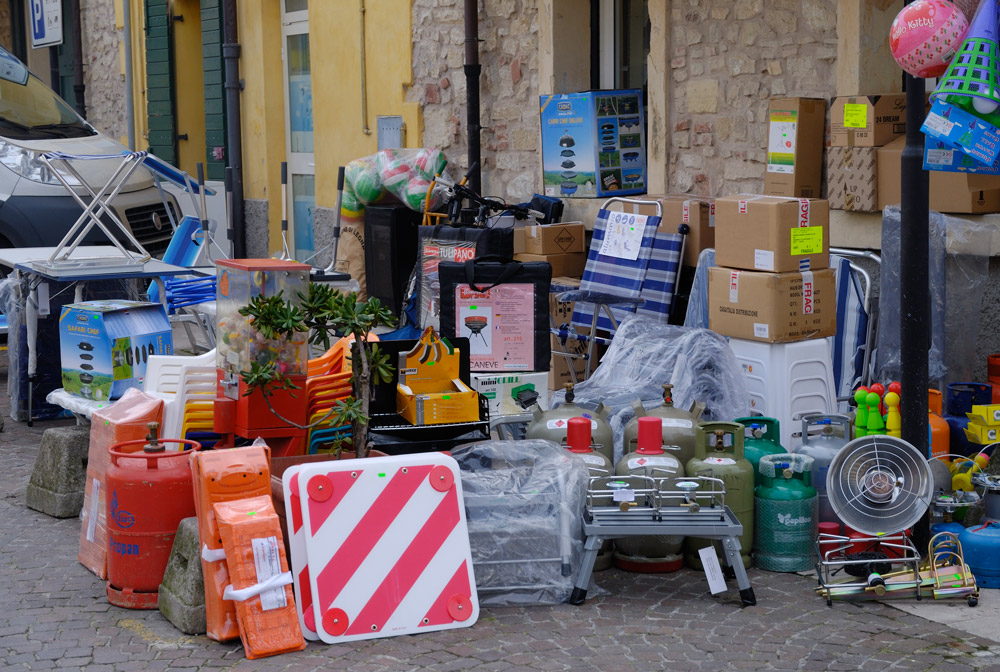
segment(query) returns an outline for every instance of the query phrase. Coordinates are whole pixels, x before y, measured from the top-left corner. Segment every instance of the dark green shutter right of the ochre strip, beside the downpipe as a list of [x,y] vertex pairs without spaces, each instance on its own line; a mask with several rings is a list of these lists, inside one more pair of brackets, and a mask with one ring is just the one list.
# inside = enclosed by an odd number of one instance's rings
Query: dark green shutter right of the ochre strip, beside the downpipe
[[226,89],[222,59],[222,2],[201,0],[201,53],[205,72],[205,177],[226,177]]

